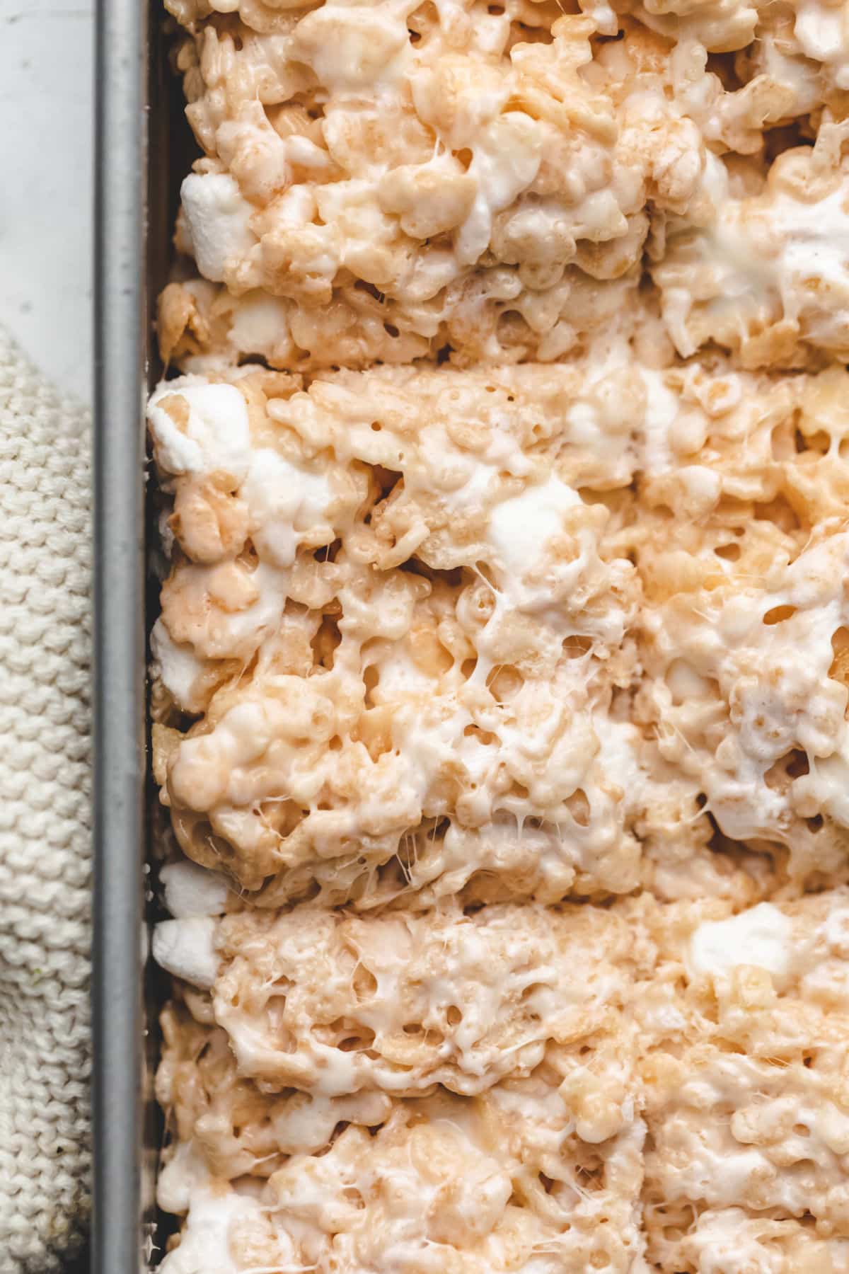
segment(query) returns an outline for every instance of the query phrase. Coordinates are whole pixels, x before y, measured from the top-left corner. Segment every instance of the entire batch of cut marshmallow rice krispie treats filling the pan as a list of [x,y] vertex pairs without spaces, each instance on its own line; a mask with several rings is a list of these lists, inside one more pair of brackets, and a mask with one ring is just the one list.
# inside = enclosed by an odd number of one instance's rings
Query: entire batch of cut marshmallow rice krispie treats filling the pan
[[167,0],[167,1274],[849,1274],[849,9]]

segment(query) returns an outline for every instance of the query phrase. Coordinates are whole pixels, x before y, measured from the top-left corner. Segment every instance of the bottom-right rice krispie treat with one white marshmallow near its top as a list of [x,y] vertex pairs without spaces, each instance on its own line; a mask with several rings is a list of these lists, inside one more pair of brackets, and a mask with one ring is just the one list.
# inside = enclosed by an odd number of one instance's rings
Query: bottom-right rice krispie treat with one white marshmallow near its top
[[843,1270],[849,894],[661,916],[642,1000],[653,1269]]

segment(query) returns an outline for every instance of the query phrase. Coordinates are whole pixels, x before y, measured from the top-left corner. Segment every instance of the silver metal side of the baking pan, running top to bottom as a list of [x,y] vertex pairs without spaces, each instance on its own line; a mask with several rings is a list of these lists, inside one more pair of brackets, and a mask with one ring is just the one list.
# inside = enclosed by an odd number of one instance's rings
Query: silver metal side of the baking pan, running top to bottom
[[[181,89],[162,0],[98,0],[94,375],[94,1274],[155,1269],[162,1122],[151,1094],[162,986],[146,962],[151,787],[145,725],[144,400],[160,368],[155,296],[168,269]],[[154,592],[155,598],[155,592]]]

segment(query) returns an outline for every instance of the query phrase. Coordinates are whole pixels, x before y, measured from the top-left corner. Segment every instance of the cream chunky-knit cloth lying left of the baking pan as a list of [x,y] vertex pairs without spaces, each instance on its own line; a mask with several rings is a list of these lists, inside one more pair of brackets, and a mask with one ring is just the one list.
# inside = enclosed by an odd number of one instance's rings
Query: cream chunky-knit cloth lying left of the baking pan
[[89,438],[0,333],[0,1274],[89,1213]]

